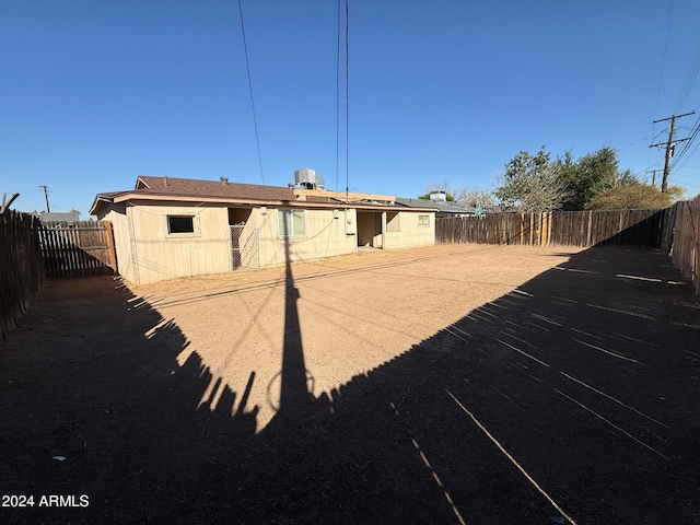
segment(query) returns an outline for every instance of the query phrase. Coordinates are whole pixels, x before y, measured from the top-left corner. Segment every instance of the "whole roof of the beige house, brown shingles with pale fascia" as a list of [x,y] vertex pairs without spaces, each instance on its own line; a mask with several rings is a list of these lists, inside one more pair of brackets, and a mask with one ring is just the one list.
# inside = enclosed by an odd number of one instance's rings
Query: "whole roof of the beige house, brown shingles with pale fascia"
[[[308,197],[312,197],[308,200]],[[357,208],[366,210],[394,208],[394,205],[376,202],[342,202],[332,198],[317,198],[296,191],[290,187],[261,186],[256,184],[229,183],[222,177],[219,182],[198,180],[192,178],[139,176],[135,189],[97,194],[90,209],[91,214],[98,214],[108,203],[127,201],[180,201],[180,202],[218,202],[238,206],[290,206],[304,208]],[[422,201],[419,206],[425,211],[435,211],[434,202]],[[400,205],[398,205],[400,207]]]

